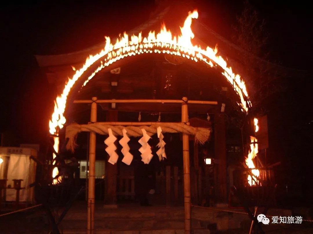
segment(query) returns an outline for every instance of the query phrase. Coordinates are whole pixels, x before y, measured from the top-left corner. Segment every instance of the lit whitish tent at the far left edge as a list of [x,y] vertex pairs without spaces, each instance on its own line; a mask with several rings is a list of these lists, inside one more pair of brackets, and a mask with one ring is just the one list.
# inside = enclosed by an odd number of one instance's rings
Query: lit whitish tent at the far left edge
[[[22,179],[19,201],[34,203],[34,188],[29,188],[35,182],[36,163],[31,156],[37,157],[35,149],[19,147],[0,147],[0,179],[7,179],[7,188],[2,196],[5,201],[15,201],[16,190],[13,188],[13,179]],[[4,200],[3,199],[3,200]]]

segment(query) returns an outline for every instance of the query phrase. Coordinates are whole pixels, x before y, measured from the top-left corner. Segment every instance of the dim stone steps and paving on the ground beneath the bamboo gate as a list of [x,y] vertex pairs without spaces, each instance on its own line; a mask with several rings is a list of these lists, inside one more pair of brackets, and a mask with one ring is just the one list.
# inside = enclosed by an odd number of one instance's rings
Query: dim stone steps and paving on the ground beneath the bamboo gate
[[[87,226],[87,207],[85,202],[77,202],[62,221],[64,233],[83,233]],[[209,228],[217,230],[240,228],[247,215],[231,214],[198,207],[192,208],[192,230],[194,233],[210,233]],[[104,209],[103,203],[95,205],[96,233],[159,234],[183,233],[184,207],[151,206],[138,204],[119,205],[115,209]]]

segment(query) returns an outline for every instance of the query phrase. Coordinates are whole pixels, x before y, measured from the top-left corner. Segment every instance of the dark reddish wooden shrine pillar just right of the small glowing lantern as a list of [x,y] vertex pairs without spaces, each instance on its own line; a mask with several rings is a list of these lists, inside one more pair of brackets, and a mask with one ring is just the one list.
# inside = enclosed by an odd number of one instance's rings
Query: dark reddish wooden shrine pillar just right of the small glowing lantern
[[214,158],[218,159],[215,192],[219,202],[227,202],[226,129],[225,115],[214,116]]

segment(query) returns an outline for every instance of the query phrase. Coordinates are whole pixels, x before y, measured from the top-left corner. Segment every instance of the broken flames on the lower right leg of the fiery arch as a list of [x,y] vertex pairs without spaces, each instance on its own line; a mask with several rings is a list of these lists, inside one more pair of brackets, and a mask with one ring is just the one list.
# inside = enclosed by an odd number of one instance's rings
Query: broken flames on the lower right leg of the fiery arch
[[[254,127],[255,127],[255,132],[259,131],[259,125],[258,125],[258,119],[254,118]],[[253,159],[257,156],[257,154],[259,153],[258,150],[258,144],[256,142],[258,142],[258,139],[256,139],[256,137],[254,136],[250,136],[250,151],[248,154],[248,157],[246,158],[246,165],[248,168],[255,168],[254,163],[253,163]],[[259,184],[259,180],[257,179],[257,177],[260,176],[260,171],[258,169],[254,169],[251,170],[251,173],[253,174],[248,175],[248,183],[250,186],[252,185],[256,185]]]

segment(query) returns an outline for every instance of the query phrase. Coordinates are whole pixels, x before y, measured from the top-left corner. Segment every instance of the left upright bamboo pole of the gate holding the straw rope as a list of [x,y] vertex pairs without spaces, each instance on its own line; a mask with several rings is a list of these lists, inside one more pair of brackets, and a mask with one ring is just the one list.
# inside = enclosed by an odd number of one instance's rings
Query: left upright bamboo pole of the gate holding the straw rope
[[[92,98],[90,121],[97,122],[97,100]],[[96,134],[90,132],[89,136],[89,175],[88,175],[88,204],[87,204],[87,233],[94,234],[95,229],[95,158]]]

